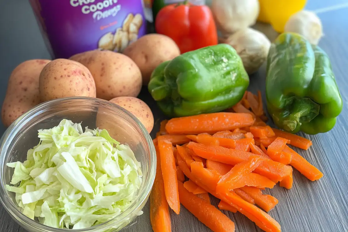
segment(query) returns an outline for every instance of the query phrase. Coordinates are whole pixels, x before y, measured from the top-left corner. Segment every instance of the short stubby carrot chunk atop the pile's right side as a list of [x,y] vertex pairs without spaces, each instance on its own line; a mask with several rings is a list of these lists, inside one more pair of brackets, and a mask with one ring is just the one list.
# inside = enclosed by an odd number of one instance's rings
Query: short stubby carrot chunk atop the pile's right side
[[285,138],[277,137],[267,149],[267,155],[274,161],[288,165],[291,162],[291,154],[283,152],[286,143],[290,141]]

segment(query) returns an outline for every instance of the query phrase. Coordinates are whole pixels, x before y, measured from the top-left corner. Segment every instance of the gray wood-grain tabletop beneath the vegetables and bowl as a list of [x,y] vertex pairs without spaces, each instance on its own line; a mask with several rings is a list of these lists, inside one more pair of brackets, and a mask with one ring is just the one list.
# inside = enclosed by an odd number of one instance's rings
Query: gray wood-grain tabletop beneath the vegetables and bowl
[[[319,10],[325,37],[320,46],[329,54],[343,102],[348,98],[348,8],[335,7],[346,4],[347,0],[309,0],[307,9]],[[324,8],[324,9],[323,9]],[[257,25],[270,39],[277,34],[267,25]],[[50,56],[41,38],[33,13],[26,0],[0,0],[0,103],[5,97],[8,77],[11,71],[27,59],[49,59]],[[249,90],[264,92],[265,69],[250,77]],[[155,116],[155,135],[159,121],[164,118],[158,111],[146,89],[140,96],[149,104]],[[318,167],[324,177],[316,182],[308,181],[294,171],[294,185],[291,190],[275,187],[269,194],[279,199],[278,205],[270,212],[282,226],[284,232],[347,232],[348,231],[348,117],[347,105],[338,117],[337,125],[329,133],[307,136],[313,140],[308,151],[299,151],[310,163]],[[0,133],[5,131],[0,125]],[[213,199],[213,203],[217,203]],[[136,218],[135,224],[124,232],[150,232],[149,203],[144,214]],[[227,213],[236,224],[237,232],[261,231],[254,223],[240,213]],[[184,207],[180,215],[172,216],[173,232],[210,231],[192,216]],[[0,232],[25,232],[0,205]]]

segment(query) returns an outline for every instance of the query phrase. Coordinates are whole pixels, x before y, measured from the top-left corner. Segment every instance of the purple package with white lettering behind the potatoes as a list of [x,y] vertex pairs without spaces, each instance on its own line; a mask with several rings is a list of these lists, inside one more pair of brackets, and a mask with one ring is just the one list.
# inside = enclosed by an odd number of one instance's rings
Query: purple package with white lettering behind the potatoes
[[54,58],[121,52],[146,34],[142,0],[30,0]]

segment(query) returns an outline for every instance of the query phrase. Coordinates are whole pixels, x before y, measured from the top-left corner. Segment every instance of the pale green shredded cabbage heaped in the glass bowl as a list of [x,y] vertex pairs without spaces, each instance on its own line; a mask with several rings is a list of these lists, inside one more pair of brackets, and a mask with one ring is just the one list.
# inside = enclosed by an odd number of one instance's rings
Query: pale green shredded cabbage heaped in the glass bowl
[[22,213],[44,225],[84,229],[125,211],[142,183],[133,151],[106,130],[85,132],[63,119],[38,130],[40,142],[14,168],[8,191],[16,193]]

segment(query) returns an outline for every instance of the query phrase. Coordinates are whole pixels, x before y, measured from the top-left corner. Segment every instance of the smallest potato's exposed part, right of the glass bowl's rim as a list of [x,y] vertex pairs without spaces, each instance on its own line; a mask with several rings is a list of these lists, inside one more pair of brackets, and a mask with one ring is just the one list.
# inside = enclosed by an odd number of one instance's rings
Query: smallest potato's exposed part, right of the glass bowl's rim
[[136,97],[116,97],[110,100],[132,113],[150,133],[153,128],[153,114],[150,107]]

